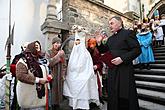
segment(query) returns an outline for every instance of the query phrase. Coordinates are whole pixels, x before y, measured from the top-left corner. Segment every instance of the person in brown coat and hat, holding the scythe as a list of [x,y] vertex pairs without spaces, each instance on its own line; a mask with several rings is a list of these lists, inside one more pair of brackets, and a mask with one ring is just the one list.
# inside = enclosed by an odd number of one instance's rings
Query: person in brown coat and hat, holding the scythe
[[49,68],[53,76],[51,82],[51,108],[52,110],[59,110],[60,103],[63,100],[63,81],[66,73],[65,53],[60,49],[61,39],[54,37],[52,39],[52,47],[46,53],[49,60]]

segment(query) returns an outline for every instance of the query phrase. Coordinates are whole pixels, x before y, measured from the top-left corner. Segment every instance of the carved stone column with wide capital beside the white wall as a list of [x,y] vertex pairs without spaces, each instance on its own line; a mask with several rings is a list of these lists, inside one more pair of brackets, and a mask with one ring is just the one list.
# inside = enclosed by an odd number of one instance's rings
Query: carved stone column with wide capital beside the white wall
[[61,34],[61,30],[68,30],[66,23],[58,21],[56,12],[56,0],[49,0],[47,16],[45,22],[41,25],[41,31],[45,36],[45,50],[51,47],[52,39]]

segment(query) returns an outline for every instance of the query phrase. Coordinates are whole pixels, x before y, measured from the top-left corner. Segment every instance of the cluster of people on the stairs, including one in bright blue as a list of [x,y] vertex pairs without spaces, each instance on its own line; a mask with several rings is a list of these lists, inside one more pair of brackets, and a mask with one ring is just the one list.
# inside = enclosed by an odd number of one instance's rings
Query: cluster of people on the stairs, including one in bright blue
[[142,22],[135,21],[133,29],[142,49],[142,54],[134,62],[140,63],[140,69],[150,69],[149,64],[155,62],[153,48],[164,44],[165,14],[154,16],[154,19],[144,18]]

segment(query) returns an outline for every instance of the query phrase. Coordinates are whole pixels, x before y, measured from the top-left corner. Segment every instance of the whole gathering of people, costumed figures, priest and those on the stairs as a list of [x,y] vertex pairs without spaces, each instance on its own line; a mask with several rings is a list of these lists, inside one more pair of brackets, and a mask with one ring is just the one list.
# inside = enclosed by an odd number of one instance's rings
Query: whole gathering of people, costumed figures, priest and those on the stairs
[[68,60],[60,36],[46,52],[39,41],[24,43],[10,65],[10,109],[62,110],[68,100],[69,110],[103,110],[105,104],[105,110],[139,110],[134,65],[150,69],[155,62],[153,48],[164,44],[165,15],[135,21],[131,29],[119,16],[108,23],[111,36],[99,30],[90,38],[74,25]]

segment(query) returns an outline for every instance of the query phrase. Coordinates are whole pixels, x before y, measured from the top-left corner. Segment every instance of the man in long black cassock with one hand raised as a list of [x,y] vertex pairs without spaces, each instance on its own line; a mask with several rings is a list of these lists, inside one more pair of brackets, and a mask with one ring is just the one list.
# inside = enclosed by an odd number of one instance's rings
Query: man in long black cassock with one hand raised
[[120,17],[112,17],[109,27],[113,35],[106,44],[102,37],[96,37],[99,51],[109,51],[113,56],[110,62],[114,66],[108,71],[107,110],[139,110],[132,60],[140,55],[140,45],[134,32],[123,28]]

